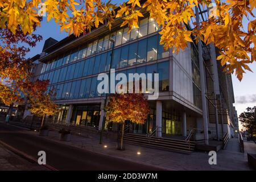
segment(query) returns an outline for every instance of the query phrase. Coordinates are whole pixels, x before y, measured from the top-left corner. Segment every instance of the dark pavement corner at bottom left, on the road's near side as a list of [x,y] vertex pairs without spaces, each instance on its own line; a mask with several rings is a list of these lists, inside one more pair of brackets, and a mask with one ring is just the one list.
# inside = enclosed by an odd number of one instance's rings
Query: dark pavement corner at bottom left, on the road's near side
[[0,144],[0,171],[46,171],[47,168],[28,162]]

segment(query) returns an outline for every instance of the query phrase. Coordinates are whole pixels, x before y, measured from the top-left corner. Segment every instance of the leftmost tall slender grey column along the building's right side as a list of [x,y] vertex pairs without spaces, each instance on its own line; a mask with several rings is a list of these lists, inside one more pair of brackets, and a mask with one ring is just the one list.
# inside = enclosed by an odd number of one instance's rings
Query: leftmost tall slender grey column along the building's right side
[[[196,23],[197,24],[200,23],[199,10],[197,7],[196,7]],[[204,68],[203,48],[202,48],[201,40],[199,40],[197,47],[198,47],[198,53],[199,53],[200,88],[201,88],[203,123],[204,123],[204,142],[208,146],[209,145],[209,137],[208,137],[207,102],[206,102],[206,98],[205,98],[205,68]]]

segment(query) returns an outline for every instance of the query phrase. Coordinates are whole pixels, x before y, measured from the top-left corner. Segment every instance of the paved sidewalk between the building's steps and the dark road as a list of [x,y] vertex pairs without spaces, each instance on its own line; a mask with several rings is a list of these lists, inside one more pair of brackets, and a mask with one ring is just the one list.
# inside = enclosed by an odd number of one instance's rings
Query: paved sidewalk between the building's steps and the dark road
[[[35,131],[26,131],[26,133],[38,135],[38,132]],[[90,138],[72,135],[71,142],[59,141],[57,131],[50,131],[49,137],[46,138],[98,154],[158,166],[168,170],[251,170],[247,164],[247,154],[237,151],[221,150],[217,153],[217,165],[209,165],[207,152],[195,151],[191,155],[187,155],[127,143],[125,143],[125,151],[118,151],[116,150],[117,142],[104,138],[104,143],[99,144],[100,137],[93,135]],[[137,154],[138,151],[141,152],[140,155]]]

